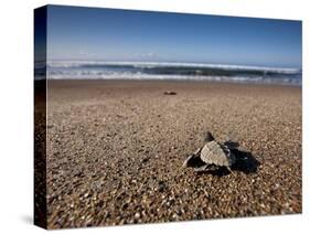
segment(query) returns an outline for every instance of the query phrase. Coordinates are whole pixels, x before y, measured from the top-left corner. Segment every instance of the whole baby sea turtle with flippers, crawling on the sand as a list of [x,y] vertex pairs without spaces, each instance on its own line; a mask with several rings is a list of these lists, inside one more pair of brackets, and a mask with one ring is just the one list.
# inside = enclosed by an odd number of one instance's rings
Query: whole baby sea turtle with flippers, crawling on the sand
[[189,156],[183,167],[193,167],[195,171],[207,171],[212,167],[225,167],[232,171],[231,167],[236,161],[232,149],[237,149],[237,147],[238,143],[231,140],[220,143],[207,131],[204,136],[204,146]]

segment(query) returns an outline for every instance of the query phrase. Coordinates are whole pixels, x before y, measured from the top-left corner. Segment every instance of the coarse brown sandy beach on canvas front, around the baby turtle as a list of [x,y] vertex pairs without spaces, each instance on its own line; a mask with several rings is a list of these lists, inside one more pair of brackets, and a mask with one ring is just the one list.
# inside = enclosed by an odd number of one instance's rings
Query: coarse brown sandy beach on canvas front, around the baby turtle
[[[164,95],[164,92],[175,95]],[[301,213],[301,87],[49,81],[47,227]],[[180,169],[210,130],[233,173]]]

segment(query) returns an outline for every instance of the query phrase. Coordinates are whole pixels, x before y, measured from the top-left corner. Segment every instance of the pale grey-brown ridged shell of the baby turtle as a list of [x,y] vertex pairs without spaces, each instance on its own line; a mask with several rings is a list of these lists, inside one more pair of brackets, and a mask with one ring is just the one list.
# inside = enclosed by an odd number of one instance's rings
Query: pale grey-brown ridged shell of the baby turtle
[[201,160],[207,164],[231,167],[235,162],[235,157],[231,153],[228,147],[213,140],[202,148]]

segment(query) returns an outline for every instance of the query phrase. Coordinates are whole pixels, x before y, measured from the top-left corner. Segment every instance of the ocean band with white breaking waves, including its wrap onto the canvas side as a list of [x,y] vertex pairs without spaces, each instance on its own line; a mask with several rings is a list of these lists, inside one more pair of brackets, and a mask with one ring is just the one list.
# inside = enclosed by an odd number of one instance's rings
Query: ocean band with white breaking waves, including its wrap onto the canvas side
[[[45,66],[35,64],[35,77],[44,77]],[[255,84],[302,84],[300,68],[240,66],[203,63],[52,61],[49,79],[177,79]]]

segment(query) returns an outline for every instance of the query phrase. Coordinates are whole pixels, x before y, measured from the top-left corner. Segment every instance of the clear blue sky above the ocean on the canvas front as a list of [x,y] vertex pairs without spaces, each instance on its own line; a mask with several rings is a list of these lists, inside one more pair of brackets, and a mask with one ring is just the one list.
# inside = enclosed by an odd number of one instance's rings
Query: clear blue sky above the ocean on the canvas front
[[50,6],[49,60],[301,67],[301,22]]

